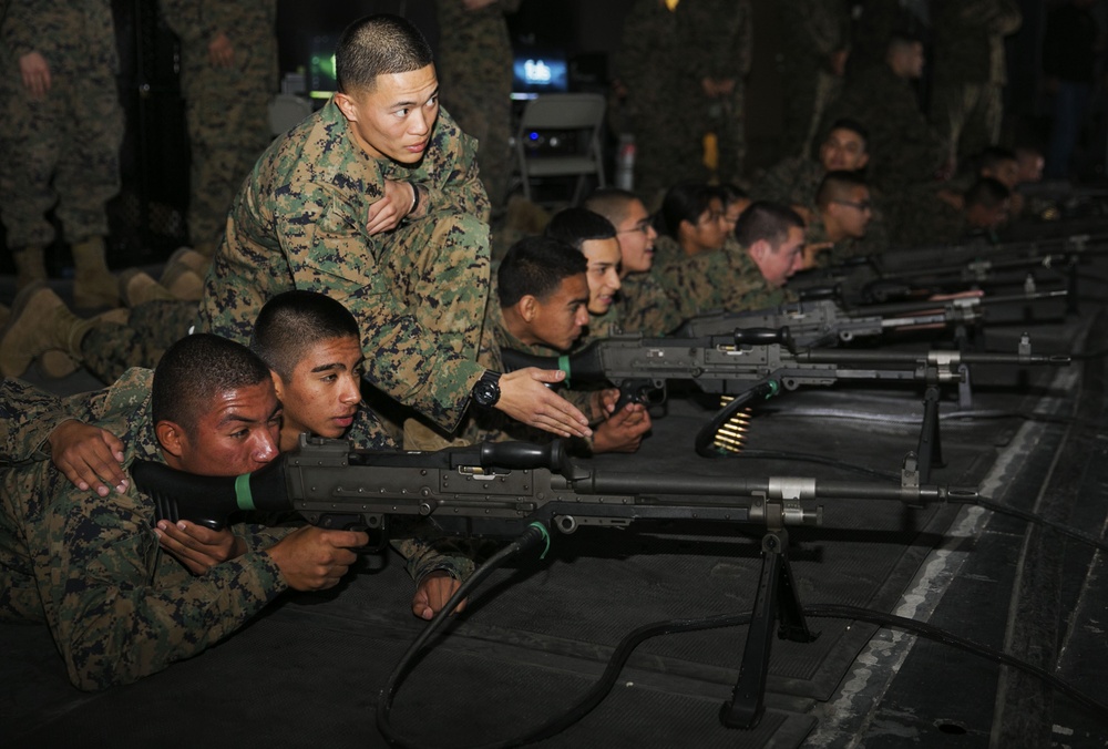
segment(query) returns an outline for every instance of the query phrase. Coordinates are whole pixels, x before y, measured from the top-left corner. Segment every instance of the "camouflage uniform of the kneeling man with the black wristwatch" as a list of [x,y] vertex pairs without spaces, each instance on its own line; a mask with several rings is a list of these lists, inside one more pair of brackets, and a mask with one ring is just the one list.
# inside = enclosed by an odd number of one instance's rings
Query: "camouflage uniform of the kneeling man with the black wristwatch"
[[[275,142],[243,185],[197,330],[245,342],[273,296],[325,293],[358,319],[366,377],[452,430],[483,372],[489,201],[474,151],[440,110],[418,165],[373,160],[328,102]],[[371,236],[367,212],[384,195],[384,179],[418,183],[428,213]]]

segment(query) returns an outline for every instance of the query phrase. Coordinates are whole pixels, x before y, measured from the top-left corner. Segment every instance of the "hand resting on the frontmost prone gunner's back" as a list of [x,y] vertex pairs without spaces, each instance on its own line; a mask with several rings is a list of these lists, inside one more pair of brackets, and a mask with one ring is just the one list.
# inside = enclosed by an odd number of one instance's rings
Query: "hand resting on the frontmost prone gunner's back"
[[109,431],[75,420],[63,421],[47,439],[50,456],[62,474],[81,491],[107,496],[114,486],[127,491],[123,472],[123,443]]

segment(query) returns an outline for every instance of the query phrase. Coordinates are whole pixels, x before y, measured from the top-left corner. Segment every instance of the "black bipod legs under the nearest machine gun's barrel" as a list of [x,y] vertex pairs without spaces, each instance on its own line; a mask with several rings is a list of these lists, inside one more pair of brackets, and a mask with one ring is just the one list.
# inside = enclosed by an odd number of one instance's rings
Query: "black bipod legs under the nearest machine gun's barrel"
[[719,710],[720,721],[728,728],[755,728],[766,712],[766,677],[773,644],[773,619],[779,622],[778,637],[794,643],[811,643],[812,635],[792,584],[788,556],[789,534],[782,529],[762,536],[762,566],[755,595],[755,608],[742,650],[739,680],[731,701]]

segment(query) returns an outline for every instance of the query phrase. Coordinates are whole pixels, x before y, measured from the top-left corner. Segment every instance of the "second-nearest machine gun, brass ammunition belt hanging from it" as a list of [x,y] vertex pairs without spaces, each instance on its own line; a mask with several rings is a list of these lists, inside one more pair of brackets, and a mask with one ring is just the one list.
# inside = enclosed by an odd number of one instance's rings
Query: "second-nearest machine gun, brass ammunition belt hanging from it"
[[611,383],[619,389],[616,409],[627,402],[660,403],[668,380],[693,382],[706,393],[735,396],[700,430],[697,453],[718,454],[716,433],[740,408],[756,398],[769,398],[801,386],[831,386],[840,380],[911,380],[926,386],[920,458],[924,470],[941,462],[938,388],[958,383],[968,406],[970,366],[1068,365],[1066,356],[1032,353],[1024,334],[1015,353],[931,350],[923,352],[800,349],[788,328],[737,329],[728,335],[700,338],[644,338],[619,335],[593,341],[570,356],[537,357],[512,349],[501,351],[510,369],[561,369],[564,383]]

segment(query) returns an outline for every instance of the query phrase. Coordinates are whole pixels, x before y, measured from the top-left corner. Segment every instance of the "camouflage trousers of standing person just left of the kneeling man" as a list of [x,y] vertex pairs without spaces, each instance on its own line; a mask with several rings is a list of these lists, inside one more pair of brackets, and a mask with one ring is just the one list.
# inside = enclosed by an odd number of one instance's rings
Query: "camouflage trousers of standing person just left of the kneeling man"
[[243,181],[273,140],[269,75],[205,66],[183,76],[188,123],[188,237],[218,244]]

